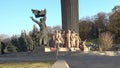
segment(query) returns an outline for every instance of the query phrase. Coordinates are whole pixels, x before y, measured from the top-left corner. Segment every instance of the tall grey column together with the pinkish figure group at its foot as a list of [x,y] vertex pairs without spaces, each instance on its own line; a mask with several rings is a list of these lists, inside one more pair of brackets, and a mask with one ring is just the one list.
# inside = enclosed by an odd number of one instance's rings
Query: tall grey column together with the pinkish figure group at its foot
[[53,43],[51,44],[52,50],[58,46],[59,50],[64,48],[63,51],[83,51],[84,45],[80,44],[81,39],[79,38],[78,0],[61,0],[61,12],[62,30],[65,33],[62,32],[59,36],[59,32],[55,32],[53,35],[54,46]]

